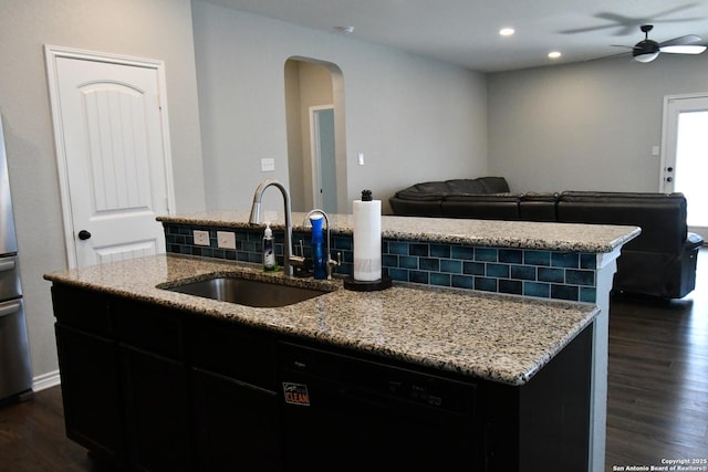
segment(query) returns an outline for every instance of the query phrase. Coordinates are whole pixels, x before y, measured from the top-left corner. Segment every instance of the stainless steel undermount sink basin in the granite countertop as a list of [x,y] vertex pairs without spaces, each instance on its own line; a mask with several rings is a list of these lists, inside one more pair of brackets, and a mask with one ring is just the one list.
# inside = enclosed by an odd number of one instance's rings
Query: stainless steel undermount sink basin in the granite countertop
[[292,305],[329,293],[326,290],[305,289],[238,276],[216,276],[165,287],[165,290],[259,308]]

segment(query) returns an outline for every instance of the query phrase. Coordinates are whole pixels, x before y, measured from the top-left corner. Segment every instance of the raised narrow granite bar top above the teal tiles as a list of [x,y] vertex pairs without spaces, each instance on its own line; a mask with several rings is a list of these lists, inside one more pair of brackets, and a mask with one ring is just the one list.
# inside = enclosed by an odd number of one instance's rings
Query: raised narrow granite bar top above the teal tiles
[[[220,228],[253,228],[248,223],[249,216],[250,212],[246,210],[217,210],[158,217],[157,220]],[[303,227],[305,213],[293,212],[292,217],[294,230],[309,230],[309,227]],[[329,218],[333,234],[354,232],[354,219],[351,214],[329,214]],[[266,211],[261,221],[270,221],[271,227],[277,230],[284,227],[282,211]],[[383,216],[381,227],[382,237],[387,239],[591,253],[612,252],[641,232],[638,227],[606,224],[393,216]]]

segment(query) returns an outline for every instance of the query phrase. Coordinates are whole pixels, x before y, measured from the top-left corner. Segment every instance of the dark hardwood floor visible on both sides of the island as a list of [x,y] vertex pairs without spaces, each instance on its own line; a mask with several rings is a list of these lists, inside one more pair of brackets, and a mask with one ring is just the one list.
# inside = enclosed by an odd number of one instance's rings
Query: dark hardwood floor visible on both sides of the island
[[[708,248],[678,301],[613,297],[605,465],[708,458]],[[61,390],[0,407],[0,472],[105,472],[65,438]]]

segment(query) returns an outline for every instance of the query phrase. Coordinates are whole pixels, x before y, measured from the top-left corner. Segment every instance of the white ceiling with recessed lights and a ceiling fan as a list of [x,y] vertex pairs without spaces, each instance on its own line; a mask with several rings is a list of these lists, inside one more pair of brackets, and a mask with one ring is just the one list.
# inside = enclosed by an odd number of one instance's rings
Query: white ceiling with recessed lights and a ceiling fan
[[[708,0],[206,1],[332,34],[335,27],[354,27],[353,39],[480,72],[618,54],[629,50],[612,45],[636,44],[644,39],[639,25],[645,23],[655,25],[649,38],[658,42],[685,34],[700,35],[701,43],[708,40]],[[501,38],[504,27],[516,34]],[[563,55],[551,61],[551,51]]]

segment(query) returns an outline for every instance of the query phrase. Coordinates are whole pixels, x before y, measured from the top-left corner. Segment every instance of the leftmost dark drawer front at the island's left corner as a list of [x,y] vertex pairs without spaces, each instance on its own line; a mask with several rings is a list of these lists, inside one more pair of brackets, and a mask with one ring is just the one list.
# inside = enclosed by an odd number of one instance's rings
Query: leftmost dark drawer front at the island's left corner
[[113,336],[107,297],[101,292],[54,284],[52,304],[59,323],[104,337]]

